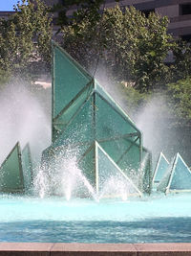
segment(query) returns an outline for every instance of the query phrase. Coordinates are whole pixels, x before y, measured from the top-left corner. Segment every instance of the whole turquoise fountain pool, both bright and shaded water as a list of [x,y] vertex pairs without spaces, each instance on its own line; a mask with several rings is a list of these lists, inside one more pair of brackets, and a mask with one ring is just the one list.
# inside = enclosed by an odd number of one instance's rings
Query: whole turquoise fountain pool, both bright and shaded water
[[191,195],[99,202],[1,195],[0,242],[191,243]]

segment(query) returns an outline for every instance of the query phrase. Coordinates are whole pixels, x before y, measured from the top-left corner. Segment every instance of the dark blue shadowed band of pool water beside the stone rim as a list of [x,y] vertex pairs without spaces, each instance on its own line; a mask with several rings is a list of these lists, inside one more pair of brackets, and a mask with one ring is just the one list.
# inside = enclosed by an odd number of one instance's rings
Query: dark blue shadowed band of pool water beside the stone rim
[[0,242],[190,243],[191,218],[0,222]]

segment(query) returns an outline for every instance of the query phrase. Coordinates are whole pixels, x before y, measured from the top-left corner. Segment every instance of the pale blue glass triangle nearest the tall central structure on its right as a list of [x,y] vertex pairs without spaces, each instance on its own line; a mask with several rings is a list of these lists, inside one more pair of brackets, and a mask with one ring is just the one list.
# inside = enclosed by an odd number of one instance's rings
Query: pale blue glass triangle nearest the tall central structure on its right
[[156,187],[159,184],[159,181],[162,179],[163,175],[166,173],[166,170],[169,167],[169,162],[166,159],[165,155],[160,152],[159,159],[157,161],[156,169],[153,175],[153,185]]

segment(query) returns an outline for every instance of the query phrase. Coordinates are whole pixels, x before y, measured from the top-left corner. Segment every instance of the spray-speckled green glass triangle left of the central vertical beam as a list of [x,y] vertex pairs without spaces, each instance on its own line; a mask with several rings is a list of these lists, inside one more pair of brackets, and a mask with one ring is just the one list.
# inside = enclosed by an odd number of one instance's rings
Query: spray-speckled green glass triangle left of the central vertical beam
[[59,133],[53,147],[91,143],[95,138],[95,123],[93,112],[93,97],[75,114],[67,127]]

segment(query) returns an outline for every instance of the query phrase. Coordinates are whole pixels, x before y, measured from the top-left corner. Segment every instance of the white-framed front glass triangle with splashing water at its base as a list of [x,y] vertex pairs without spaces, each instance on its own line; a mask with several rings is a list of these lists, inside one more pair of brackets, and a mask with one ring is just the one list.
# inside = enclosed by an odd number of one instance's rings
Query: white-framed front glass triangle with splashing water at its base
[[97,167],[98,167],[98,190],[104,197],[124,197],[141,193],[134,183],[125,175],[113,161],[113,159],[98,144]]

